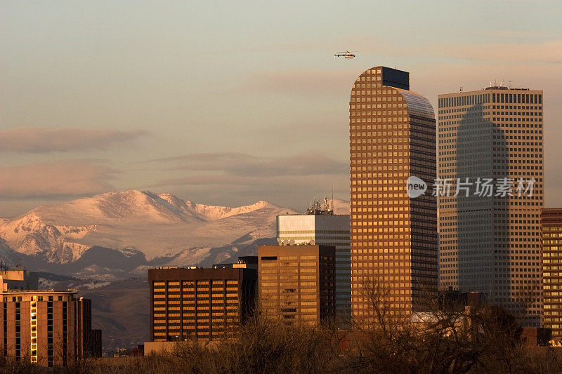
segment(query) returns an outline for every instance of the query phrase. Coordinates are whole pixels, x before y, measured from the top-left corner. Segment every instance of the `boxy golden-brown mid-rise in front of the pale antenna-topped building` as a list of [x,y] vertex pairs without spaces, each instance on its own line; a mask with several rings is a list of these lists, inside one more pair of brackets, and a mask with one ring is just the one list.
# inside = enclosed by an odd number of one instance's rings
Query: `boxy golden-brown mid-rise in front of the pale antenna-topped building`
[[318,325],[336,315],[335,248],[259,246],[259,306],[267,318]]

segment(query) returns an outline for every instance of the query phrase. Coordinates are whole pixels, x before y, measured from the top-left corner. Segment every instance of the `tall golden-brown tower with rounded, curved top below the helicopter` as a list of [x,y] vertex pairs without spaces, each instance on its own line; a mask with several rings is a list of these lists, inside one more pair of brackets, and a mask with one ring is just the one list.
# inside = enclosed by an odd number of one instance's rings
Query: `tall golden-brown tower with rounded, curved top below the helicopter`
[[[375,290],[405,318],[437,291],[435,116],[409,89],[409,73],[379,66],[351,90],[351,303],[364,326],[377,322]],[[410,198],[408,182],[429,191]]]

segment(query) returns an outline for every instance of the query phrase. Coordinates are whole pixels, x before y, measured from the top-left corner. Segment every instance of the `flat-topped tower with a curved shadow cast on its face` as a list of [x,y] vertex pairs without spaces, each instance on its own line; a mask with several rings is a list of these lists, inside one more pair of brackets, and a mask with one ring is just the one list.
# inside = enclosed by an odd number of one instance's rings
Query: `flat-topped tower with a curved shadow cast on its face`
[[438,102],[440,286],[488,293],[540,326],[542,91],[494,86]]

